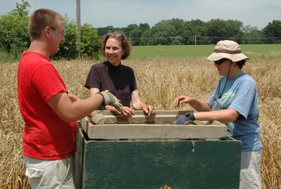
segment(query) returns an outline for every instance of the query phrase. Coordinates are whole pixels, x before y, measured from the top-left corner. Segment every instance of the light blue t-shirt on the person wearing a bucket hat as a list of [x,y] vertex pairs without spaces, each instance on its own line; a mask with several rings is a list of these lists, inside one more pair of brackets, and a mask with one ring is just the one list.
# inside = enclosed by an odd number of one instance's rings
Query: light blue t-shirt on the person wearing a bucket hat
[[[226,123],[228,136],[242,141],[242,151],[259,150],[262,144],[259,133],[261,126],[258,124],[259,102],[256,83],[246,73],[228,79],[227,83],[226,80],[226,76],[221,77],[221,82],[207,103],[211,105],[211,110],[231,108],[239,112],[240,116],[234,122]],[[223,95],[218,98],[218,94],[222,92]]]

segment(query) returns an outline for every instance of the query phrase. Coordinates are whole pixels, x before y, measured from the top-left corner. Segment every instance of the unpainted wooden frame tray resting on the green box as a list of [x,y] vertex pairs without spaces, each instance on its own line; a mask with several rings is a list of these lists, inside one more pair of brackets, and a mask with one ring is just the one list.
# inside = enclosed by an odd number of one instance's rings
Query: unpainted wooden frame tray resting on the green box
[[188,111],[157,111],[145,118],[143,111],[125,119],[110,111],[100,111],[118,124],[93,125],[89,117],[80,120],[90,139],[103,140],[183,140],[192,138],[226,138],[226,125],[220,122],[195,121],[188,125],[176,125],[175,120]]

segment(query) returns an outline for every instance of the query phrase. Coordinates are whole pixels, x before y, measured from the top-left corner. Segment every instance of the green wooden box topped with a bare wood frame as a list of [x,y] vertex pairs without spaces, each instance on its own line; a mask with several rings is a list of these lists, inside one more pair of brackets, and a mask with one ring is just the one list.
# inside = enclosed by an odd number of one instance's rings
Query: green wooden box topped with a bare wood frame
[[117,124],[79,121],[75,183],[82,189],[239,188],[241,141],[220,122],[175,125],[188,111],[131,119],[100,111]]

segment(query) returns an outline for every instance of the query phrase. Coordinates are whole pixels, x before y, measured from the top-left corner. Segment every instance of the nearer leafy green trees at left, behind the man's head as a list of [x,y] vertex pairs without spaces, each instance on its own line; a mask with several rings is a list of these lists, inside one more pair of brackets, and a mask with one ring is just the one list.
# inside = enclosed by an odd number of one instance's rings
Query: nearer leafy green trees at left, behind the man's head
[[[16,51],[21,54],[23,50],[30,46],[30,36],[28,34],[27,8],[30,4],[22,0],[22,4],[16,4],[16,8],[11,13],[0,16],[0,46],[8,53]],[[52,58],[77,58],[77,30],[74,20],[65,18],[65,41],[60,45],[60,51]],[[98,58],[100,55],[101,41],[98,37],[98,30],[92,25],[81,26],[81,56]]]

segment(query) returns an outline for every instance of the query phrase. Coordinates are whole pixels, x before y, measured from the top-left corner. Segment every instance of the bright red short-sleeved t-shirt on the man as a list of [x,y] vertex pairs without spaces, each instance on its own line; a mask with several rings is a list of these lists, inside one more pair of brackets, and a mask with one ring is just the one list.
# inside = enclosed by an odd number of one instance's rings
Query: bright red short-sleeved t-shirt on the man
[[18,103],[25,121],[23,154],[37,159],[64,159],[76,152],[77,122],[64,122],[47,104],[57,93],[67,93],[51,60],[25,51],[18,64]]

